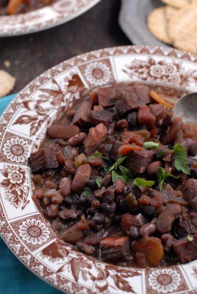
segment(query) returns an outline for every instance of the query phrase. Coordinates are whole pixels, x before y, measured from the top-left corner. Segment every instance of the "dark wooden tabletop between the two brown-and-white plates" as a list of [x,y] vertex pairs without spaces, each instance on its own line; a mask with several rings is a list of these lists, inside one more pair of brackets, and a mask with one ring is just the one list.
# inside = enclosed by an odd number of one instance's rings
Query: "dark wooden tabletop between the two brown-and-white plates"
[[[0,69],[16,77],[11,93],[52,66],[91,50],[130,45],[118,24],[121,0],[101,0],[81,16],[45,31],[0,38]],[[5,60],[10,62],[6,67]]]

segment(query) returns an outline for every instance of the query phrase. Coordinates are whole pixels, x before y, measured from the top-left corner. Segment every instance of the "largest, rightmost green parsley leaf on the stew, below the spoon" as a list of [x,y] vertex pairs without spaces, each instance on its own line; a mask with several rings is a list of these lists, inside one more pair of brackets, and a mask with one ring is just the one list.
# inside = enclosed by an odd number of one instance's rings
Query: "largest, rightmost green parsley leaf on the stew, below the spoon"
[[190,169],[187,160],[187,151],[179,143],[173,146],[174,150],[174,167],[177,171],[190,174]]

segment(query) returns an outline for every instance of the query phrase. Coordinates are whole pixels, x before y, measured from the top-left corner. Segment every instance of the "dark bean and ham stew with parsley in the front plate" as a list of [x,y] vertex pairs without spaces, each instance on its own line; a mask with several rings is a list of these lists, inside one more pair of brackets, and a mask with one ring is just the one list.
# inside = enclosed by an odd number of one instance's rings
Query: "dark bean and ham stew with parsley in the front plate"
[[140,84],[84,91],[59,110],[30,166],[63,241],[122,266],[197,258],[197,127],[172,114]]

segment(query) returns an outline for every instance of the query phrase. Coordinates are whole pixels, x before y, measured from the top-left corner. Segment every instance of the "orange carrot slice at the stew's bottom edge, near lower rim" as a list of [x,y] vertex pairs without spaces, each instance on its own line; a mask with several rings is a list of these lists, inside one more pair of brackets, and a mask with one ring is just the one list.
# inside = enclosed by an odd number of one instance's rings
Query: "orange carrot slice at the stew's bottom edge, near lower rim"
[[145,236],[134,241],[132,250],[134,255],[138,252],[144,253],[149,267],[155,267],[164,257],[164,247],[161,240],[156,237]]

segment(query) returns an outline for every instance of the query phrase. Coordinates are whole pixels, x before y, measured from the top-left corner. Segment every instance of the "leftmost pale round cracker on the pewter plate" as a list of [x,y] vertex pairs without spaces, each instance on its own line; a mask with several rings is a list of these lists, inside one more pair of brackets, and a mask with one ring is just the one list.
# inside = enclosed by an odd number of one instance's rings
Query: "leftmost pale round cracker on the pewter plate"
[[155,38],[164,43],[171,44],[171,39],[167,33],[165,6],[152,10],[152,12],[148,15],[147,26]]

